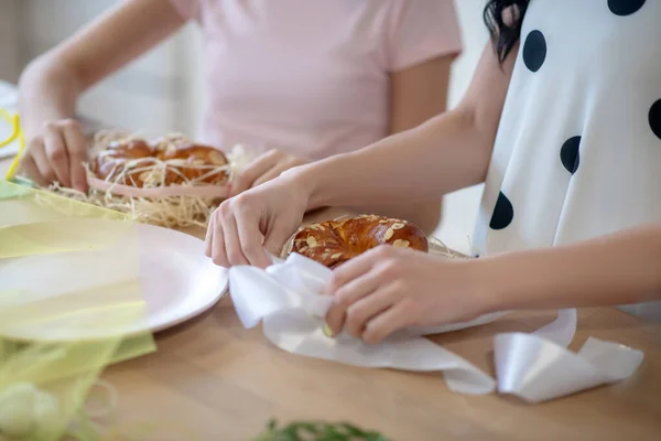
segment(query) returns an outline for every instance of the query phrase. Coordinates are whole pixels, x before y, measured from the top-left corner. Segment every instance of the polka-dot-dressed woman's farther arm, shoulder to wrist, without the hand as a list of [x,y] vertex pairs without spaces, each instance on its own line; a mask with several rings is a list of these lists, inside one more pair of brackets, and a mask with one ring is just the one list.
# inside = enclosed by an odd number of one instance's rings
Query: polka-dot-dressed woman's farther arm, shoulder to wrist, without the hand
[[354,153],[294,169],[308,207],[424,202],[485,180],[516,52],[498,64],[487,45],[456,109]]

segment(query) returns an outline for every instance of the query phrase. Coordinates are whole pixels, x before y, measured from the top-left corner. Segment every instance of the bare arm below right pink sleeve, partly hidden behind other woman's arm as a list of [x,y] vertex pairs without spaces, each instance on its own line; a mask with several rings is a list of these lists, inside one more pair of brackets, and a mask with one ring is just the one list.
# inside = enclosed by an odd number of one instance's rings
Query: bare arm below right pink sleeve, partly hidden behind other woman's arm
[[[452,55],[441,56],[390,75],[389,135],[413,129],[446,111],[453,61]],[[359,209],[408,219],[432,233],[441,220],[441,201],[438,196],[416,204],[373,203]]]

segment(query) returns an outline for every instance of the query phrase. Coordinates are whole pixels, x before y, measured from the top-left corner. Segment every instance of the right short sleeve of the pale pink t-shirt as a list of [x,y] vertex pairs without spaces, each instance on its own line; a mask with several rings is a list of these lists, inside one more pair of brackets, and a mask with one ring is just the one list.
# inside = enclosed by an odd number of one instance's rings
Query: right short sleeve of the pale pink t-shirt
[[462,52],[453,0],[393,0],[387,36],[387,68],[402,71],[426,60]]

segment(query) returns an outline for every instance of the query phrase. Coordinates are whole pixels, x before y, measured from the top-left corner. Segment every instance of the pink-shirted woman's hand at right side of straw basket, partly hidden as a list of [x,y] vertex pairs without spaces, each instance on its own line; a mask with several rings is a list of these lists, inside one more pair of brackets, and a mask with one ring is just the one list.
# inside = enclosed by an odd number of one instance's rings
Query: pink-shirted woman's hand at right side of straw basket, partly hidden
[[294,166],[303,165],[306,161],[295,158],[282,150],[270,150],[257,158],[246,170],[236,176],[231,183],[230,196],[236,196],[248,189],[256,187],[280,176]]

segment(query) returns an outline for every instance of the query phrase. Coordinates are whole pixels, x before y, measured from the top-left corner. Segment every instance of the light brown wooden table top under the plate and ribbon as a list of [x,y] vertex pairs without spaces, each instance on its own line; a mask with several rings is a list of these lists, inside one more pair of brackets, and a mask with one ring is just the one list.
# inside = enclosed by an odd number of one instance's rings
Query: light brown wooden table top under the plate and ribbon
[[[494,374],[496,333],[533,331],[551,320],[546,312],[512,314],[432,340]],[[165,432],[150,438],[159,441],[246,441],[271,418],[350,421],[400,441],[661,439],[661,325],[613,308],[588,309],[579,312],[571,348],[588,336],[642,349],[646,359],[624,383],[529,406],[497,395],[454,394],[442,374],[290,355],[272,346],[260,327],[245,330],[225,298],[158,335],[156,353],[112,366],[104,377],[120,394],[111,423],[165,423]],[[171,427],[191,435],[165,434]]]

